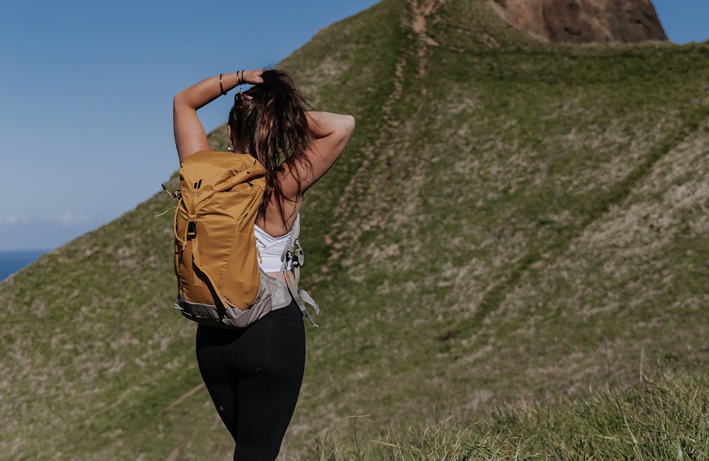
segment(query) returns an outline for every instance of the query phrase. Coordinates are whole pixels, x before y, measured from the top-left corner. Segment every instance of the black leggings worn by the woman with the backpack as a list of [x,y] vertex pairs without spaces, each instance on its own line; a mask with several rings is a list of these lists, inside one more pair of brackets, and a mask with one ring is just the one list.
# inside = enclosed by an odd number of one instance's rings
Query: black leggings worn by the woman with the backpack
[[306,338],[295,301],[251,326],[197,326],[197,363],[236,442],[234,460],[275,460],[303,381]]

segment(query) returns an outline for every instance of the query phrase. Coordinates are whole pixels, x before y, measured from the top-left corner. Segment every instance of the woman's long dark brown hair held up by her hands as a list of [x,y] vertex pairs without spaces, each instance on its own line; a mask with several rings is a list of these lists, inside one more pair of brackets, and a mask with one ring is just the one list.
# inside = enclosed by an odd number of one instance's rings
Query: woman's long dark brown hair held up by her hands
[[[275,198],[285,223],[283,201],[296,201],[301,197],[302,178],[296,176],[296,197],[288,197],[281,189],[278,173],[284,170],[284,165],[293,167],[298,162],[306,162],[310,167],[303,155],[312,140],[305,113],[308,105],[288,73],[266,70],[261,78],[262,84],[234,96],[228,123],[246,152],[256,157],[266,170],[266,189],[258,216],[265,215],[269,201]],[[291,171],[298,174],[297,169]]]

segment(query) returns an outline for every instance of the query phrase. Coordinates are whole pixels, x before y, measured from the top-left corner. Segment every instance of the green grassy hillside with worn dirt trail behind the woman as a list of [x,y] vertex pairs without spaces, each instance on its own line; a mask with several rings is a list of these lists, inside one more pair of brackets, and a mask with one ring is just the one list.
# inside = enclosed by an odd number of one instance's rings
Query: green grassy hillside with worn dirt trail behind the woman
[[[384,0],[282,65],[357,130],[303,206],[323,311],[281,459],[356,414],[364,443],[434,411],[463,431],[514,401],[705,382],[708,43],[550,45],[484,0]],[[0,458],[230,459],[171,308],[172,204],[0,284]]]

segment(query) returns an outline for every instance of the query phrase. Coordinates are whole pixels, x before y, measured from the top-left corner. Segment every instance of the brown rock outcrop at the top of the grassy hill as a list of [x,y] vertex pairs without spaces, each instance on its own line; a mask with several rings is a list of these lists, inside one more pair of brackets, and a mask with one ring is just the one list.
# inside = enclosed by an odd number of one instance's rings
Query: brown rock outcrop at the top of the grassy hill
[[493,0],[516,28],[552,42],[667,40],[650,0]]

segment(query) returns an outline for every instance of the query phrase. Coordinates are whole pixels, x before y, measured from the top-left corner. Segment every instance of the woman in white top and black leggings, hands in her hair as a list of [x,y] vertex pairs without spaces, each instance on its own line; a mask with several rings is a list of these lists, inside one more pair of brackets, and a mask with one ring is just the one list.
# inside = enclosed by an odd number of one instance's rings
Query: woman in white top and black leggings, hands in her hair
[[[256,157],[266,171],[255,233],[262,255],[259,265],[275,277],[303,196],[345,149],[354,118],[305,111],[293,80],[281,70],[220,74],[174,96],[174,136],[181,163],[209,149],[197,109],[239,84],[253,87],[235,95],[228,118],[229,150]],[[209,395],[236,442],[234,459],[274,460],[305,366],[303,316],[296,302],[243,329],[200,324],[196,355]]]

